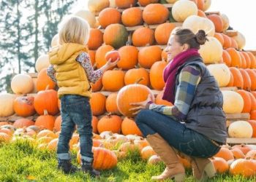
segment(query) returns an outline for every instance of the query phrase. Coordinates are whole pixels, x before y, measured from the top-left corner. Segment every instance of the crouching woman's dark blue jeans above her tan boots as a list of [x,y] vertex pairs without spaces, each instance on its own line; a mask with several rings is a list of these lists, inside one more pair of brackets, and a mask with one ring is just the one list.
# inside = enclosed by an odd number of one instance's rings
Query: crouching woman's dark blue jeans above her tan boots
[[212,157],[220,149],[204,135],[156,111],[141,110],[135,122],[145,137],[158,133],[170,146],[192,157]]

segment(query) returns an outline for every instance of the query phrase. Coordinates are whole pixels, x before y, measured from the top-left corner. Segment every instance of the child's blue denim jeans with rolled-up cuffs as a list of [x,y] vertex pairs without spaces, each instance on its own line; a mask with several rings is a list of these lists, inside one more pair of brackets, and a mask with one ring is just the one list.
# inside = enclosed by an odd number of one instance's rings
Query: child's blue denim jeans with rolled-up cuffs
[[57,154],[59,159],[70,159],[69,141],[78,127],[80,138],[81,159],[86,162],[93,160],[92,149],[92,127],[91,106],[89,98],[81,95],[63,95],[61,97],[61,133]]

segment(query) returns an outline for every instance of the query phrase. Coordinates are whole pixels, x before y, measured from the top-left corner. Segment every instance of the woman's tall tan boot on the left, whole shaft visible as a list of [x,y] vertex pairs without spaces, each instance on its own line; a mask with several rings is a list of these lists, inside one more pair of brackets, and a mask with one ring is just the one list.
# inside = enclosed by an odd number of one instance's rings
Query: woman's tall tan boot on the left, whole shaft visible
[[146,140],[154,151],[165,162],[165,171],[158,176],[153,176],[152,180],[162,181],[167,178],[173,178],[174,181],[185,181],[185,169],[179,162],[176,152],[158,133],[147,135]]

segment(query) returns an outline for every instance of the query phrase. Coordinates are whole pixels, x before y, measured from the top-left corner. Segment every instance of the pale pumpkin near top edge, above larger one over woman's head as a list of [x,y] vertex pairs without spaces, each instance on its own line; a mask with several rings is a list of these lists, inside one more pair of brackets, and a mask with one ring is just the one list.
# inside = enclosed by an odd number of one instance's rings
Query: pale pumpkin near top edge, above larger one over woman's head
[[197,15],[197,5],[189,0],[176,1],[173,4],[172,15],[177,22],[184,22],[187,17]]

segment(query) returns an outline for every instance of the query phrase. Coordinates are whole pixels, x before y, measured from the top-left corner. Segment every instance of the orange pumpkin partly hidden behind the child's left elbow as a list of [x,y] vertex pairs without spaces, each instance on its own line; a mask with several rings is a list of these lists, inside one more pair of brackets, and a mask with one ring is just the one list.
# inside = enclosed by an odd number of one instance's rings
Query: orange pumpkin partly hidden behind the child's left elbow
[[37,91],[45,90],[46,87],[48,89],[54,89],[56,86],[56,83],[53,82],[52,79],[47,74],[46,68],[42,68],[42,70],[39,72],[37,76]]

